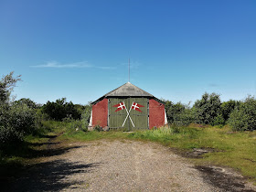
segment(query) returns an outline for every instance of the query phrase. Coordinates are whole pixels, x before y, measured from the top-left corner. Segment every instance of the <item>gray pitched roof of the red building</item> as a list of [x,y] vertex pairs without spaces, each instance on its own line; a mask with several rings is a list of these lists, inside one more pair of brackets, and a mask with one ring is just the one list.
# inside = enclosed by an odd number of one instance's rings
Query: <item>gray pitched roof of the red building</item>
[[[108,92],[107,94],[103,95],[96,101],[93,101],[92,104],[101,101],[104,98],[108,97],[147,97],[147,98],[155,98],[154,95],[138,88],[137,86],[133,85],[131,82],[126,82],[119,88]],[[155,100],[160,101],[159,99],[155,98]],[[163,101],[161,101],[163,102]]]

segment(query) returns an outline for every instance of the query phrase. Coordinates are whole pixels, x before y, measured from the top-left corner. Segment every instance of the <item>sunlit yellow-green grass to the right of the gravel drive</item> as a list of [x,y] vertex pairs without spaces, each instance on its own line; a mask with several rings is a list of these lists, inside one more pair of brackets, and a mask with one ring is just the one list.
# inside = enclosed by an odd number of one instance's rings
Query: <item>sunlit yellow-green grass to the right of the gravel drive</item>
[[[178,129],[178,130],[176,130]],[[240,171],[256,182],[256,132],[229,132],[229,128],[183,127],[131,133],[130,138],[143,139],[180,150],[211,148],[203,158],[193,159],[199,165],[224,165]]]

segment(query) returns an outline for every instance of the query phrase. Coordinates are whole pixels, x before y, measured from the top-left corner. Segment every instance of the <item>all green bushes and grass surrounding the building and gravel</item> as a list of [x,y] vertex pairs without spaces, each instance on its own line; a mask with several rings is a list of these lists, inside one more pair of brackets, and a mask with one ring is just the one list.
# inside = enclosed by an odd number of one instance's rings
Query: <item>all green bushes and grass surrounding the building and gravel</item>
[[[11,93],[20,76],[11,72],[0,80],[0,166],[24,163],[37,157],[35,144],[52,135],[61,142],[96,139],[135,139],[159,142],[183,155],[195,148],[209,153],[193,158],[197,164],[227,165],[256,181],[256,99],[221,101],[216,93],[205,93],[193,106],[165,101],[168,128],[135,133],[88,132],[91,104],[66,101],[37,104],[30,99],[15,101]],[[32,150],[32,152],[31,152]],[[34,156],[34,154],[36,154]]]

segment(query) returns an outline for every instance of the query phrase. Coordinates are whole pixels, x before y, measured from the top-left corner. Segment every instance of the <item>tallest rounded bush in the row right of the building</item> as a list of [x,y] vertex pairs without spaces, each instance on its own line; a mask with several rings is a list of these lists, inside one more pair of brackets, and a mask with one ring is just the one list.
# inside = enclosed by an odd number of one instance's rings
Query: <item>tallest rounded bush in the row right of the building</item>
[[197,123],[215,124],[215,119],[220,114],[221,101],[216,93],[202,95],[201,100],[197,100],[193,106]]

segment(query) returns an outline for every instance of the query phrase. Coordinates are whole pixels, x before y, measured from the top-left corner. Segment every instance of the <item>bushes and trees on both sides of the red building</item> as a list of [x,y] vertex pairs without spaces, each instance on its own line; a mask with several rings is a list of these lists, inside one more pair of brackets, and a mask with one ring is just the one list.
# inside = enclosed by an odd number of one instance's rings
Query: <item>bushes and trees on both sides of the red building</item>
[[[65,98],[43,105],[30,99],[15,101],[11,93],[19,80],[13,72],[0,80],[0,155],[1,150],[22,142],[25,135],[42,133],[47,121],[64,122],[70,130],[88,130],[91,104],[73,104]],[[229,124],[234,131],[256,130],[256,100],[251,96],[244,101],[221,102],[218,94],[205,93],[192,107],[165,101],[165,110],[170,124]]]

